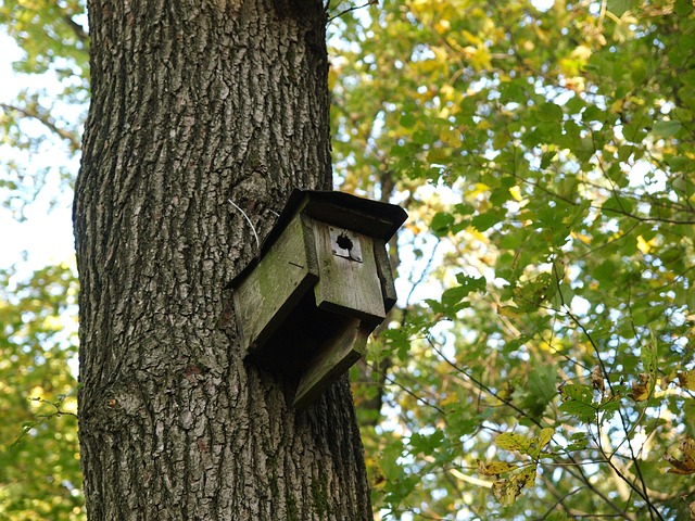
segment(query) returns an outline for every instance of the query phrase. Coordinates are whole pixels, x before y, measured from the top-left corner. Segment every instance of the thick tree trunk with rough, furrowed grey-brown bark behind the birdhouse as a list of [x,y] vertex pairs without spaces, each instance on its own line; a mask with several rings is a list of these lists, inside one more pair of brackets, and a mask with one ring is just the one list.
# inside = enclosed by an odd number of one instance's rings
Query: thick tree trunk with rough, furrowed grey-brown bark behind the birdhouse
[[[315,0],[90,0],[74,220],[91,520],[371,519],[346,378],[307,410],[240,355],[229,281],[331,183]],[[311,325],[307,325],[311,327]]]

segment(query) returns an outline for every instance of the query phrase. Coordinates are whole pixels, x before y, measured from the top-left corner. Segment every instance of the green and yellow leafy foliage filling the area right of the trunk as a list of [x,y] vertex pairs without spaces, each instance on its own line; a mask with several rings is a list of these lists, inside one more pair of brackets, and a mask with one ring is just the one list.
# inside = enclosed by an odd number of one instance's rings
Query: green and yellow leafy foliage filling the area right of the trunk
[[[387,0],[336,33],[337,171],[412,216],[365,383],[381,512],[685,519],[692,3]],[[497,460],[539,432],[543,457]]]

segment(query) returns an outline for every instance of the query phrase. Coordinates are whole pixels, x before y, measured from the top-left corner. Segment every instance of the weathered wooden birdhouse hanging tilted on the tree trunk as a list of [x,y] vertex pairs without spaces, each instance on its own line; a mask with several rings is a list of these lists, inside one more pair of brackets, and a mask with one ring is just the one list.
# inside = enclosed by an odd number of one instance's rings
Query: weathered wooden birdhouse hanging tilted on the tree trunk
[[364,355],[395,304],[387,242],[400,206],[294,190],[256,260],[233,281],[244,356],[280,373],[308,405]]

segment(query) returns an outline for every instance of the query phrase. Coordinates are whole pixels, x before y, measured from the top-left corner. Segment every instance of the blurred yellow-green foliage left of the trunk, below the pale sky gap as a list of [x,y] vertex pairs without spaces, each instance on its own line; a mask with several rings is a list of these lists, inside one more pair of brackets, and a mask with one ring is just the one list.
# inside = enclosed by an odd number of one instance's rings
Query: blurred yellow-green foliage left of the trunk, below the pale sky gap
[[0,519],[83,519],[77,442],[77,282],[67,266],[0,271]]

